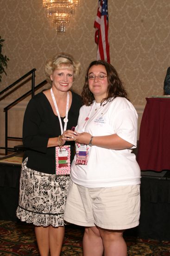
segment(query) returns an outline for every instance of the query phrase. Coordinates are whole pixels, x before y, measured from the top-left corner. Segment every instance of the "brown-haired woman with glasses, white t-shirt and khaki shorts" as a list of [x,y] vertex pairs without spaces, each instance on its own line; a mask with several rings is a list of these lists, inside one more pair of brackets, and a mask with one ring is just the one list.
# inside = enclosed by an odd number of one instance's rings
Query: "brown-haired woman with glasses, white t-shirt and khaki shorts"
[[123,232],[140,214],[138,115],[105,61],[90,63],[82,99],[64,219],[85,226],[84,256],[126,256]]

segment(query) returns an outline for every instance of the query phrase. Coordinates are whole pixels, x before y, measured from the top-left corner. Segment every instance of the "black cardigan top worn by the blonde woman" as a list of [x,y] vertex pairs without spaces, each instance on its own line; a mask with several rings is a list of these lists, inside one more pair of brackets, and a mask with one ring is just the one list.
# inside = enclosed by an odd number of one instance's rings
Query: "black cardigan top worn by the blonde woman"
[[[77,125],[82,99],[72,92],[72,103],[68,113],[67,129]],[[61,117],[62,124],[64,117]],[[51,137],[61,135],[58,117],[54,114],[50,102],[43,92],[36,94],[28,103],[23,123],[23,144],[26,148],[23,161],[28,157],[27,167],[39,172],[55,174],[55,147],[47,148]],[[71,159],[74,157],[74,141],[65,145],[71,147]]]

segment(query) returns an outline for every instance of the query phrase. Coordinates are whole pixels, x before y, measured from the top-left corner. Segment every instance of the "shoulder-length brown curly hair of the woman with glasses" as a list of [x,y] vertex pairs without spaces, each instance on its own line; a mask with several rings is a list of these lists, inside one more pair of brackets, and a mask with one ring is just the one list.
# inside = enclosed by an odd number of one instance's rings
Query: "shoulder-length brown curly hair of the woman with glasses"
[[94,101],[94,95],[91,93],[91,91],[88,88],[88,71],[89,71],[90,67],[92,67],[94,65],[96,65],[96,66],[103,65],[103,66],[105,66],[106,71],[107,71],[107,82],[108,82],[107,97],[101,101],[101,104],[104,101],[113,101],[113,99],[118,96],[124,97],[127,100],[129,100],[127,98],[126,90],[119,78],[119,75],[118,75],[116,69],[111,64],[107,63],[106,61],[100,60],[100,61],[92,61],[89,64],[88,69],[86,71],[85,83],[84,83],[84,86],[82,89],[83,103],[86,106],[90,106]]

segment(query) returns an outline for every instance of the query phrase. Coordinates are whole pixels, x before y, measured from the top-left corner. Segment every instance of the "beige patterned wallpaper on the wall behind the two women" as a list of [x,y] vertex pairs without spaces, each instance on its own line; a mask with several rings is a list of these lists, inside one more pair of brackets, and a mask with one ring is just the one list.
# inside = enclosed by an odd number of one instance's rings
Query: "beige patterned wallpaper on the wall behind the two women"
[[[0,90],[36,68],[36,84],[45,79],[44,62],[66,51],[82,64],[74,84],[81,93],[85,70],[96,58],[94,19],[98,0],[81,0],[65,34],[50,26],[42,0],[0,0],[0,35],[10,61]],[[170,1],[108,0],[111,63],[117,69],[134,105],[145,105],[148,95],[163,94],[170,66]],[[31,88],[28,81],[5,100]]]

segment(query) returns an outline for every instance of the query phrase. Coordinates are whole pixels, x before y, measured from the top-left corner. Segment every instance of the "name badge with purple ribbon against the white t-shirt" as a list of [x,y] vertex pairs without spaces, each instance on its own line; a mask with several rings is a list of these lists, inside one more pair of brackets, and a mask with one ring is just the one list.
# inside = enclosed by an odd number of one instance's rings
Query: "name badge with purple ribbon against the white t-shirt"
[[76,143],[76,165],[87,165],[89,147],[86,144]]

